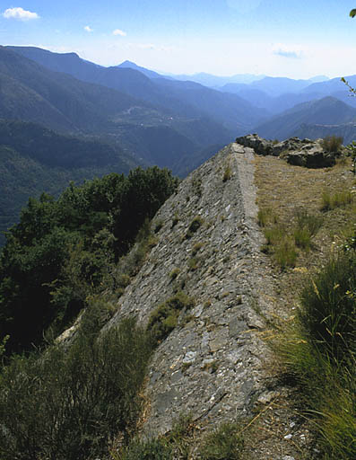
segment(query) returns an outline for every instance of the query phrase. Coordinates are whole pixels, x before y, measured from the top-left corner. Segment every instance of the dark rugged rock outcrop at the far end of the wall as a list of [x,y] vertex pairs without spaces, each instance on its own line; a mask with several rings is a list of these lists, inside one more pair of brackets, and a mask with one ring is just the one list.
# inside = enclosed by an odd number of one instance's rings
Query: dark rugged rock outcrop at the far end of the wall
[[337,156],[326,152],[322,139],[310,140],[291,137],[282,142],[269,141],[257,134],[238,137],[236,142],[241,146],[254,149],[257,155],[280,156],[289,164],[307,168],[326,168],[334,166]]

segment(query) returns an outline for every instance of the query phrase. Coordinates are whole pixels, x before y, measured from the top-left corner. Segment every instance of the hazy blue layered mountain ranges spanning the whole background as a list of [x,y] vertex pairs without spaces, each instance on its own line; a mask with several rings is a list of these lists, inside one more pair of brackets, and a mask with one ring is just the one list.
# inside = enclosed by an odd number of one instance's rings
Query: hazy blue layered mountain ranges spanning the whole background
[[[356,85],[356,75],[346,80]],[[29,191],[21,164],[41,171],[30,190],[36,195],[137,165],[185,176],[250,132],[280,140],[356,137],[356,100],[340,78],[161,75],[130,61],[104,67],[33,47],[0,47],[0,118],[2,228],[14,222]],[[48,188],[50,176],[62,179]]]

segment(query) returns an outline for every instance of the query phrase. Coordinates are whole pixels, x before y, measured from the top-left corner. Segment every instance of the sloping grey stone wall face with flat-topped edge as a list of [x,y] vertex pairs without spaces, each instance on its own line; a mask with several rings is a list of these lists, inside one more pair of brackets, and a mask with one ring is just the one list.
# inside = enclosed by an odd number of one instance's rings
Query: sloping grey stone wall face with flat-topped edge
[[[233,143],[182,181],[153,219],[158,243],[107,325],[127,315],[148,323],[178,287],[195,299],[152,358],[149,436],[182,413],[207,424],[250,415],[266,391],[265,256],[256,212],[254,150]],[[187,236],[195,217],[201,226]]]

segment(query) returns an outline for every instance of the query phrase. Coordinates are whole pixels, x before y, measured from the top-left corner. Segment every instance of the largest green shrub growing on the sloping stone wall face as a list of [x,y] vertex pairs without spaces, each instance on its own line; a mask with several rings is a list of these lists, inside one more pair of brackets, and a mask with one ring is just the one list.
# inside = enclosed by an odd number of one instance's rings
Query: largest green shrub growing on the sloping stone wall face
[[153,340],[161,342],[168,337],[178,324],[180,312],[184,309],[189,310],[194,305],[194,300],[181,291],[158,305],[147,324],[147,330],[152,333]]

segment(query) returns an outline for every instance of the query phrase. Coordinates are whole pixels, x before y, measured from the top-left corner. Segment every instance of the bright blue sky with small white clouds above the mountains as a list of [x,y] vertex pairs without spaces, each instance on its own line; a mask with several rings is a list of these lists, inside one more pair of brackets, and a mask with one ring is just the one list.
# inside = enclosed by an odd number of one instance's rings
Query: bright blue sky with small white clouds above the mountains
[[0,0],[0,44],[172,74],[356,74],[356,0]]

